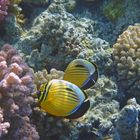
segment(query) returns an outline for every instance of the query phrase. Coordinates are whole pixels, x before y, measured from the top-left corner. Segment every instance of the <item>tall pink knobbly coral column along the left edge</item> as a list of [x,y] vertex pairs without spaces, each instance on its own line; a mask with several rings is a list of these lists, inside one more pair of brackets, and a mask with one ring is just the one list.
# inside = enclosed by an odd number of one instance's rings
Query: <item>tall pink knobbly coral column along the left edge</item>
[[30,94],[33,90],[31,70],[18,52],[11,45],[5,44],[0,51],[0,107],[10,128],[2,138],[39,139],[29,118],[32,113],[30,103],[33,101]]

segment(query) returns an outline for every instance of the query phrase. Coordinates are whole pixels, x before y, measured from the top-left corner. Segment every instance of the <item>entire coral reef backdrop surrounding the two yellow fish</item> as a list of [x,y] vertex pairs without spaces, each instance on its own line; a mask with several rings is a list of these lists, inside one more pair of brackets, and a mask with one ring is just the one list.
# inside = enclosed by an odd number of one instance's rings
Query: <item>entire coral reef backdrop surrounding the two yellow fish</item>
[[[32,97],[74,59],[95,62],[76,120]],[[0,140],[140,140],[140,0],[0,0]]]

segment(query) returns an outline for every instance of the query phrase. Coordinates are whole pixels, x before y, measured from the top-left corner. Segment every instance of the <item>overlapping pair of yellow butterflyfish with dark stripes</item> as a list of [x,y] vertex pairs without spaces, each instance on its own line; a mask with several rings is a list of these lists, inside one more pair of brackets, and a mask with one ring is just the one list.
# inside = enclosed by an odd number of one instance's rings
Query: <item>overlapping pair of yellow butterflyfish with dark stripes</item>
[[97,79],[96,64],[84,59],[73,60],[67,66],[63,80],[53,79],[40,86],[36,93],[40,108],[67,119],[83,116],[90,107],[83,90],[92,87]]

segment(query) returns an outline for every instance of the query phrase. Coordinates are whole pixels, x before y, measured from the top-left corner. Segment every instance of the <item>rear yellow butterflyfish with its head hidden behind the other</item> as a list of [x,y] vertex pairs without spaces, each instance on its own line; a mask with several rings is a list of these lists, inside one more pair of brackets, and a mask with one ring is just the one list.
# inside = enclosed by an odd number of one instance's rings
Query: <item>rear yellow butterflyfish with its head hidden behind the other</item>
[[67,66],[63,79],[83,90],[88,89],[97,82],[97,65],[84,59],[75,59]]

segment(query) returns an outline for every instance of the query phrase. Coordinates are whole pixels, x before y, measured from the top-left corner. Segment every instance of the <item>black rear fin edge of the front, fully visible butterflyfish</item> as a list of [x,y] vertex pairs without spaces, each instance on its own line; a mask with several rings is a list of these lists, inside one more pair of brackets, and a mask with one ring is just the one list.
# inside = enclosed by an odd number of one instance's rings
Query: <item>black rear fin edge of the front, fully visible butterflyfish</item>
[[82,103],[82,105],[74,113],[72,113],[69,116],[66,116],[65,118],[67,118],[67,119],[77,119],[79,117],[82,117],[87,112],[89,107],[90,107],[90,101],[86,100],[84,103]]

